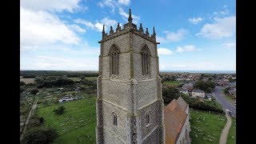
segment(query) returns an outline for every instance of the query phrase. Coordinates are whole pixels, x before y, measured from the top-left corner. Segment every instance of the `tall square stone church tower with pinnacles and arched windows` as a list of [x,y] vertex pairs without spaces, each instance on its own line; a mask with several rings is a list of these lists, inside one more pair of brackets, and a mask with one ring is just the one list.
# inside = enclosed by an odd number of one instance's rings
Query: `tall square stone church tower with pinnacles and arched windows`
[[98,144],[165,143],[156,34],[132,22],[99,41]]

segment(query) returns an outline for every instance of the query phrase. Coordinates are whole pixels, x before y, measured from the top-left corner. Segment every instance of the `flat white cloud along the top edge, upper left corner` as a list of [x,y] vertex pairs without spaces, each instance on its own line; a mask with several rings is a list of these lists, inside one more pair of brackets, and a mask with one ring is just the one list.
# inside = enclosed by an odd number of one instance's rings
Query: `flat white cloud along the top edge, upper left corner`
[[80,0],[22,0],[21,6],[29,10],[50,10],[58,11],[68,10],[73,12],[78,9],[78,2]]

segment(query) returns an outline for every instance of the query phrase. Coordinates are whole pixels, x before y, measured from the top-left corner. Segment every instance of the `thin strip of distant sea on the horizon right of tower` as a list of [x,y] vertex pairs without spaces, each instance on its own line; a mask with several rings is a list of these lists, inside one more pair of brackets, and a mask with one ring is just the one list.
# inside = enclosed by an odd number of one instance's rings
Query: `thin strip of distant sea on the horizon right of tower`
[[160,72],[173,73],[202,73],[202,74],[236,74],[235,70],[160,70]]

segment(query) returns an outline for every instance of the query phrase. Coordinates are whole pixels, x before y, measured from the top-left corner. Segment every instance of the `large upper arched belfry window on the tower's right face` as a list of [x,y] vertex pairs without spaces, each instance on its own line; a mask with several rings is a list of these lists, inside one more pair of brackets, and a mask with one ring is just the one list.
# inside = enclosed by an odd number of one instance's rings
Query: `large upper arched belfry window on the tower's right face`
[[142,48],[142,75],[150,74],[150,50],[147,46]]

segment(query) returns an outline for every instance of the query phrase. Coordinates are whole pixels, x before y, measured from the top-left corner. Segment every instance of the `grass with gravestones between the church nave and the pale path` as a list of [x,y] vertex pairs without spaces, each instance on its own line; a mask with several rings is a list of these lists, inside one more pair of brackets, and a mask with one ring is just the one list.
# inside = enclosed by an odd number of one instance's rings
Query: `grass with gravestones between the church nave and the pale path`
[[209,114],[201,110],[190,110],[190,138],[192,144],[218,143],[226,125],[222,114]]

